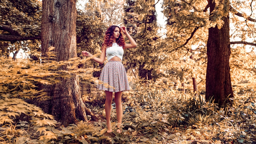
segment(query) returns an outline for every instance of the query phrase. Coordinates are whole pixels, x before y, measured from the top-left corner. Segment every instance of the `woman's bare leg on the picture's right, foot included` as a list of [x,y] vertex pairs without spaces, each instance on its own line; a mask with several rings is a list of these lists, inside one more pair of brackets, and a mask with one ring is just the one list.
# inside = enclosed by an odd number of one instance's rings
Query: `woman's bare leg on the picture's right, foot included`
[[115,92],[115,105],[116,105],[116,116],[118,121],[118,126],[116,131],[118,133],[121,133],[122,130],[120,128],[120,125],[122,123],[122,115],[123,115],[123,107],[122,107],[122,92]]

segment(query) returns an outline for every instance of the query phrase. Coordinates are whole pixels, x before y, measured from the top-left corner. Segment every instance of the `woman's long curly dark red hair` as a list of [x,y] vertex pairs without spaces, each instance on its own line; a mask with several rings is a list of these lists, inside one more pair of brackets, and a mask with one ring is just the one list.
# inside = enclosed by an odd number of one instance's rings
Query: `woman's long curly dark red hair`
[[[119,26],[115,26],[115,25],[112,25],[112,26],[110,26],[110,27],[107,29],[107,31],[106,31],[106,33],[105,33],[105,36],[104,36],[104,42],[103,42],[103,44],[102,44],[101,49],[103,49],[103,48],[106,49],[106,48],[112,46],[112,43],[114,42],[114,40],[113,40],[113,37],[114,37],[113,34],[114,34],[114,30],[115,30],[116,27],[118,27],[118,28],[120,29]],[[121,34],[121,29],[120,29],[120,35],[119,35],[119,37],[116,39],[116,43],[117,43],[120,47],[123,46],[123,48],[124,48],[125,42],[124,42],[123,35]]]

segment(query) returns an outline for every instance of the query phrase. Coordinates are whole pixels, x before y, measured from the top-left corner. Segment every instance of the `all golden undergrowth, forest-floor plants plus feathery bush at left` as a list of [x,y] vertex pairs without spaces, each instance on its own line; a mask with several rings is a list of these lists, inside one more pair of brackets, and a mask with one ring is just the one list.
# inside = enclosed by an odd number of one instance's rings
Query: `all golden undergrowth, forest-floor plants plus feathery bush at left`
[[[51,52],[48,55],[51,54],[54,56]],[[0,143],[255,143],[255,92],[249,87],[234,92],[232,107],[219,108],[213,100],[206,102],[200,93],[184,94],[172,85],[137,81],[135,90],[123,93],[122,134],[115,131],[114,103],[113,132],[106,133],[104,97],[86,101],[87,107],[101,117],[99,121],[63,127],[53,116],[25,100],[35,96],[49,98],[36,90],[36,83],[54,84],[58,82],[55,78],[70,77],[70,73],[87,80],[92,76],[73,69],[73,65],[84,62],[78,58],[65,62],[41,60],[0,61]],[[61,74],[50,71],[63,65],[70,70]],[[46,75],[51,77],[45,78]],[[28,121],[15,121],[24,114],[30,117]]]

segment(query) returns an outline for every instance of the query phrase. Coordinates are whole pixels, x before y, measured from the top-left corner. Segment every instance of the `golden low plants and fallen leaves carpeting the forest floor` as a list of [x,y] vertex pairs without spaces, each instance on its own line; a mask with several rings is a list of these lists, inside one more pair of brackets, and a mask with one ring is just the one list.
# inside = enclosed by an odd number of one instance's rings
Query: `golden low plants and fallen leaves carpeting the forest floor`
[[[150,85],[150,87],[148,86]],[[236,88],[234,106],[218,108],[203,95],[180,93],[165,85],[138,85],[137,91],[123,93],[123,133],[106,133],[104,97],[87,99],[87,107],[99,121],[80,121],[61,127],[41,127],[30,121],[0,127],[0,143],[253,143],[256,138],[255,92]],[[86,98],[85,98],[86,99]],[[114,101],[113,101],[114,102]],[[40,129],[40,130],[38,130]],[[37,131],[36,131],[37,130]]]

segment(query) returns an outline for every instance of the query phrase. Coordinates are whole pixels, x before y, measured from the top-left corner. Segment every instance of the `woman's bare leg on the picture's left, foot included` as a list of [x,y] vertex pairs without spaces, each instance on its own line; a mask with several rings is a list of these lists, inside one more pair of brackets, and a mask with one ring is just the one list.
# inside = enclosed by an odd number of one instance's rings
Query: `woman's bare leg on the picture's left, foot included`
[[107,132],[112,132],[111,125],[110,125],[110,113],[111,113],[111,103],[112,103],[112,96],[113,92],[105,91],[106,94],[106,101],[105,101],[105,113],[106,113],[106,121],[107,121]]

